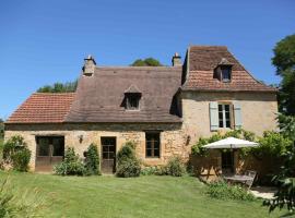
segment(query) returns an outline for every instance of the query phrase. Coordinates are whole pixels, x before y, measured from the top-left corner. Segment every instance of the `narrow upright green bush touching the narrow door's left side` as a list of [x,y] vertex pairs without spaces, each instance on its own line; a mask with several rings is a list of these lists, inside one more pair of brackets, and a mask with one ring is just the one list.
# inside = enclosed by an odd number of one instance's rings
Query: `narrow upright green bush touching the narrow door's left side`
[[84,154],[85,156],[85,172],[87,175],[101,174],[101,160],[95,144],[91,144],[88,149]]

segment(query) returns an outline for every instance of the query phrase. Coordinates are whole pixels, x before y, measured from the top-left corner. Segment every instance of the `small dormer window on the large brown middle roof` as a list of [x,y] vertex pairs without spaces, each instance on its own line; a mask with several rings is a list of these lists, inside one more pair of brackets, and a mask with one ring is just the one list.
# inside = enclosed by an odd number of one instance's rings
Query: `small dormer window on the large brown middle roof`
[[126,110],[140,110],[141,92],[135,85],[131,85],[125,92]]

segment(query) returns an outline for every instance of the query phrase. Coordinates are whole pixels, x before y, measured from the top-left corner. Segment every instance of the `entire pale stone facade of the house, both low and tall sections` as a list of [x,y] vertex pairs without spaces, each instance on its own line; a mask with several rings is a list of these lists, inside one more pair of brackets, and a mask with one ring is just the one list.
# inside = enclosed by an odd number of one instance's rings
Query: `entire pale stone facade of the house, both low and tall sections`
[[[180,156],[188,160],[191,146],[199,137],[208,137],[215,132],[210,130],[210,101],[238,100],[241,106],[243,129],[262,135],[263,131],[276,130],[276,96],[273,93],[199,93],[184,92],[180,96],[182,123],[140,123],[140,124],[9,124],[5,140],[12,135],[22,135],[32,150],[31,169],[35,168],[36,136],[63,135],[66,147],[74,147],[83,157],[83,153],[92,143],[101,147],[101,137],[116,137],[117,150],[128,141],[137,144],[138,156],[144,165],[164,165],[172,156]],[[145,132],[161,131],[161,158],[145,157]],[[80,142],[80,137],[83,141]],[[101,150],[101,149],[99,149]],[[102,154],[102,152],[101,152]],[[206,161],[193,160],[201,166],[199,172],[214,175],[220,172],[221,157],[214,153]],[[239,164],[241,165],[241,164]]]

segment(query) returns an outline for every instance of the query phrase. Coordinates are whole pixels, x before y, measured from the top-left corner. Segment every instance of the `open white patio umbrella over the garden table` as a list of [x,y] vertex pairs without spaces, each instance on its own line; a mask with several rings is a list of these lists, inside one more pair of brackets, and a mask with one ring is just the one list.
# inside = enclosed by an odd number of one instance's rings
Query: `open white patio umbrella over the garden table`
[[239,140],[235,137],[227,137],[209,145],[205,145],[204,148],[217,149],[217,148],[241,148],[241,147],[256,147],[259,146],[258,143],[249,142],[246,140]]

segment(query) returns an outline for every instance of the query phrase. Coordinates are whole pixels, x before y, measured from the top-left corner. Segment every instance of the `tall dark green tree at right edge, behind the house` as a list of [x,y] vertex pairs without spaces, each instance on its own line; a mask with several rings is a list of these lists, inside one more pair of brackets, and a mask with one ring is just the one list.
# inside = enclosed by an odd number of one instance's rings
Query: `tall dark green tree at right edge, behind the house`
[[279,93],[280,111],[295,114],[295,34],[286,36],[273,49],[272,63],[282,77]]

